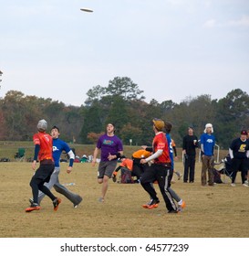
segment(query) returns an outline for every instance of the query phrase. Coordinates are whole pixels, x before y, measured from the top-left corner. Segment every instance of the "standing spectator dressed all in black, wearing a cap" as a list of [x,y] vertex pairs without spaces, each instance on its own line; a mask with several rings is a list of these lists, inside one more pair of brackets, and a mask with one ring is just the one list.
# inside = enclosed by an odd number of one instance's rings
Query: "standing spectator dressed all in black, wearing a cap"
[[195,157],[196,147],[198,147],[198,138],[193,134],[192,126],[188,128],[188,134],[183,137],[182,140],[182,154],[184,160],[184,174],[183,182],[194,182],[194,169],[195,169]]

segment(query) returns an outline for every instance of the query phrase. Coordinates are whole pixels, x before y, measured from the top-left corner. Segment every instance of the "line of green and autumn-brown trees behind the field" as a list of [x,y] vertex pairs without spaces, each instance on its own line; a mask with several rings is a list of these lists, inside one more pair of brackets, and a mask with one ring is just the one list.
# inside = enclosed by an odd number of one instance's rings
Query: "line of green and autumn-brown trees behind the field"
[[200,137],[205,123],[213,123],[217,144],[226,149],[242,129],[249,128],[249,95],[240,89],[219,100],[203,94],[179,104],[154,99],[148,103],[143,92],[128,77],[115,77],[107,87],[93,87],[81,106],[8,91],[0,99],[0,140],[31,141],[37,121],[46,119],[51,127],[60,128],[61,138],[68,143],[95,144],[110,122],[123,144],[151,144],[151,120],[157,117],[173,124],[171,137],[179,147],[189,125]]

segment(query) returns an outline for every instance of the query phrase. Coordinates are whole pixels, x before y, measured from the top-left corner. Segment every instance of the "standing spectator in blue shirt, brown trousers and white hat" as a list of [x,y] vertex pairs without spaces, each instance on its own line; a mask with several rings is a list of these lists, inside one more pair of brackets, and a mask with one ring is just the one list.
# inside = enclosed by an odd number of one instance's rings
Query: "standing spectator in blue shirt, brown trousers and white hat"
[[204,133],[201,136],[201,151],[202,151],[202,186],[213,186],[213,166],[214,166],[214,145],[215,137],[213,135],[213,124],[207,123],[205,125]]

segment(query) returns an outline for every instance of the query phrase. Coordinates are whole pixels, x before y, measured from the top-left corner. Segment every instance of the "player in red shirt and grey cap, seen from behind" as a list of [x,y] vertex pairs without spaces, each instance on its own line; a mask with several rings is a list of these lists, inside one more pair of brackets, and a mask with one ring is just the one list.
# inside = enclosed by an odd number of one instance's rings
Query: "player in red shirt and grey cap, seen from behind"
[[36,170],[37,159],[39,159],[40,165],[34,176],[32,176],[29,184],[30,187],[32,187],[33,202],[29,208],[26,208],[26,212],[40,209],[38,204],[39,190],[47,195],[47,197],[51,198],[53,201],[54,210],[56,211],[58,205],[61,202],[61,199],[55,197],[52,192],[46,186],[44,186],[44,183],[49,181],[50,176],[55,169],[55,163],[52,156],[53,139],[49,134],[46,133],[47,122],[44,119],[38,122],[37,129],[38,133],[34,134],[33,136],[33,141],[35,144],[35,155],[34,161],[32,163],[32,169]]

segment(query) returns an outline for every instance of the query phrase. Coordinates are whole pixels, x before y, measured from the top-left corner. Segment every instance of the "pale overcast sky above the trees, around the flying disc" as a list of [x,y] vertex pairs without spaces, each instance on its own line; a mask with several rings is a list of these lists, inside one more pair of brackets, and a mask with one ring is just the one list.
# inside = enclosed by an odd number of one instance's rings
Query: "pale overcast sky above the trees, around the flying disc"
[[0,0],[0,24],[0,97],[80,106],[115,77],[147,102],[249,93],[248,0]]

